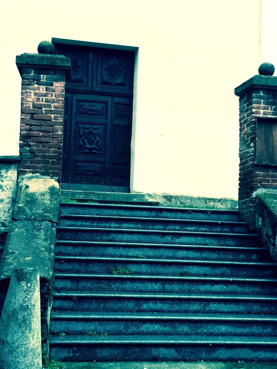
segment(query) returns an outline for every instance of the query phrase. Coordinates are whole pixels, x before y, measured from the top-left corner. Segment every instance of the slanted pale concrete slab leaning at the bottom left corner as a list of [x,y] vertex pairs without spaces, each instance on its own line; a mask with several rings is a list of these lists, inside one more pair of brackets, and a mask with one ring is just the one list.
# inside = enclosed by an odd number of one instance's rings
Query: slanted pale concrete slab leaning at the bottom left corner
[[16,269],[0,318],[0,368],[41,367],[40,274]]

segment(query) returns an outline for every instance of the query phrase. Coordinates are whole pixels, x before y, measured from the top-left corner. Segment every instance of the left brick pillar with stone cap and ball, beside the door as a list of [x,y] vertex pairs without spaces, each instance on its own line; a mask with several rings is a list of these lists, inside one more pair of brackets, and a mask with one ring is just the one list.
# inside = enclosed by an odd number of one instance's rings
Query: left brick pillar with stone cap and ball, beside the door
[[16,65],[22,77],[20,163],[18,175],[61,176],[65,79],[70,59],[54,55],[51,42],[42,41],[39,54],[21,54]]

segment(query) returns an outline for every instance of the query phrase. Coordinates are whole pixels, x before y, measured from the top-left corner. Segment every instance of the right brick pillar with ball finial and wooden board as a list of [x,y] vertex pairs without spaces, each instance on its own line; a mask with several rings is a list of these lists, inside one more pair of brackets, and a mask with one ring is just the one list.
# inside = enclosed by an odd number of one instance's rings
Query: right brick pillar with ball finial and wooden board
[[239,211],[255,227],[255,193],[277,188],[277,77],[263,63],[235,88],[239,96]]

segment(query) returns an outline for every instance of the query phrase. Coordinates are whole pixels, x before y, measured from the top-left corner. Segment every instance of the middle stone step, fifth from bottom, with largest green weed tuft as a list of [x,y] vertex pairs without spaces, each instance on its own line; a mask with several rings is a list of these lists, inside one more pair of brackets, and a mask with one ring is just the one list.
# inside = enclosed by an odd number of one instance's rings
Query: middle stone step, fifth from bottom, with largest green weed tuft
[[148,275],[275,277],[275,263],[182,259],[56,256],[55,272]]

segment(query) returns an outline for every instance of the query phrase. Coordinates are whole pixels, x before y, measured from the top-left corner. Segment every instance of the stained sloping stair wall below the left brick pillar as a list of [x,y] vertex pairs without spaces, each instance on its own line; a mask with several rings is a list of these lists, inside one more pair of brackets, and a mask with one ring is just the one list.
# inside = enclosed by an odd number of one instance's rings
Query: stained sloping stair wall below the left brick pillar
[[49,177],[25,175],[18,182],[13,224],[0,263],[1,279],[15,268],[38,268],[41,293],[42,357],[49,354],[54,246],[59,211],[59,185]]

